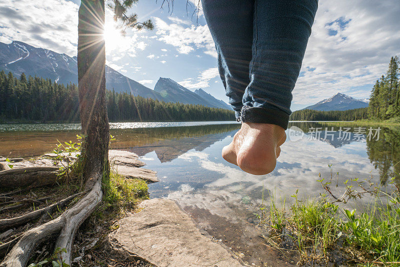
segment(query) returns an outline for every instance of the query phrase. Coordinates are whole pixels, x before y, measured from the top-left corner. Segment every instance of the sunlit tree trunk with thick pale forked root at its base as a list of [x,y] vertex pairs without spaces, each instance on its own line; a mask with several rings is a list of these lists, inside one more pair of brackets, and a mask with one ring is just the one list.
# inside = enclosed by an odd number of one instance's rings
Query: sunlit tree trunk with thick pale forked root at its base
[[37,244],[57,234],[55,247],[66,249],[67,252],[62,253],[62,258],[69,264],[76,230],[101,202],[101,180],[109,175],[109,125],[105,105],[103,39],[104,0],[81,0],[78,18],[79,110],[84,134],[81,155],[84,191],[89,192],[57,218],[26,231],[0,266],[25,266]]

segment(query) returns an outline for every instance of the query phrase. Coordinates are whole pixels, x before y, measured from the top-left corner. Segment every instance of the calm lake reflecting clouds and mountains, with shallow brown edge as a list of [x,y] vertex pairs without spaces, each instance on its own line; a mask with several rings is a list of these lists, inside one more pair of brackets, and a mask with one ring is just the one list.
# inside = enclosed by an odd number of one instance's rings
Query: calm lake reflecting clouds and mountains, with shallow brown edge
[[[330,178],[328,165],[338,193],[348,178],[384,184],[400,173],[398,126],[290,122],[276,168],[267,175],[245,173],[222,159],[222,147],[240,127],[234,121],[111,123],[110,127],[116,138],[111,148],[135,152],[145,168],[157,171],[160,181],[149,184],[151,198],[176,200],[215,240],[249,264],[261,266],[271,260],[278,265],[287,261],[273,258],[274,252],[259,236],[261,229],[255,227],[254,212],[261,203],[268,204],[270,195],[286,196],[286,203],[296,189],[303,197],[317,197],[323,193],[318,173]],[[0,155],[40,155],[51,151],[57,139],[73,141],[77,133],[79,124],[0,124]]]

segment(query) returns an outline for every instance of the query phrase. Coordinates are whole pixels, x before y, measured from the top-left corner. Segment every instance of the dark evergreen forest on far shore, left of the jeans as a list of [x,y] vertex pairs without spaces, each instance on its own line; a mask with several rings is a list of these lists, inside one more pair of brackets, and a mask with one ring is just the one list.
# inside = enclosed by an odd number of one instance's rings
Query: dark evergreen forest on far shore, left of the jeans
[[[163,102],[130,93],[106,92],[110,121],[234,120],[233,110]],[[0,71],[0,121],[79,121],[78,88],[50,79]]]

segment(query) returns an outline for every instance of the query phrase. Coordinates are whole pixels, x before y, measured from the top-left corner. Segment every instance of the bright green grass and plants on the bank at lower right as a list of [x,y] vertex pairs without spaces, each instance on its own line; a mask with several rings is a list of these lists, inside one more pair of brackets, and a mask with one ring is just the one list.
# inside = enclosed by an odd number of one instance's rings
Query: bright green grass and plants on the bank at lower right
[[[301,265],[400,266],[400,189],[394,179],[390,190],[346,181],[341,198],[332,196],[330,181],[320,181],[327,193],[318,198],[299,198],[296,190],[291,205],[282,198],[277,206],[272,196],[269,210],[260,206],[258,217],[271,233],[264,237],[270,245],[282,254],[296,251]],[[372,200],[362,212],[348,209],[349,199],[365,194]]]

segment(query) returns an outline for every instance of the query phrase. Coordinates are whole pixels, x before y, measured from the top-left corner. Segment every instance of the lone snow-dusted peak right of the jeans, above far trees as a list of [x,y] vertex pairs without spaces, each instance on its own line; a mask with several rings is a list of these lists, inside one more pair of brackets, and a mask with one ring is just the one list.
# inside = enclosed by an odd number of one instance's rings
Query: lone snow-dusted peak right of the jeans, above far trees
[[355,99],[343,93],[336,93],[332,97],[317,102],[316,104],[309,105],[304,109],[329,111],[329,110],[347,110],[347,109],[361,108],[367,106],[368,102],[366,102],[365,100]]

